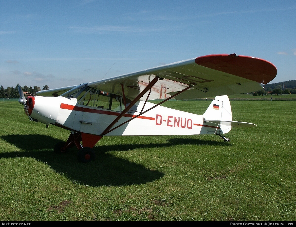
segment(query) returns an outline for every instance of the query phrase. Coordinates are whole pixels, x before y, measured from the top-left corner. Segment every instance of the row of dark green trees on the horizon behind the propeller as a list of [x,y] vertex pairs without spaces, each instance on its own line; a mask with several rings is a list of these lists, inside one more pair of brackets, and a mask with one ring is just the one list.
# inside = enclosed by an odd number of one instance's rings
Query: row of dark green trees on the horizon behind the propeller
[[[19,84],[17,84],[15,86],[15,88],[14,87],[4,88],[3,85],[1,85],[0,86],[0,98],[19,98],[20,94],[18,92],[18,86],[19,86]],[[23,92],[30,92],[33,95],[36,95],[37,91],[41,91],[40,87],[38,87],[38,86],[34,86],[32,88],[32,86],[24,85],[21,88],[22,88]],[[45,85],[45,86],[43,86],[42,91],[48,90],[48,89],[49,89],[49,87],[47,85]]]

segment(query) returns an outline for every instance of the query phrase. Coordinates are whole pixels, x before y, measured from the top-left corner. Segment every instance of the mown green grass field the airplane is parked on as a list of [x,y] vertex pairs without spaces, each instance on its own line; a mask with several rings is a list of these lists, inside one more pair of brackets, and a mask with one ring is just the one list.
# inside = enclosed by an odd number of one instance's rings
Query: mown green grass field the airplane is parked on
[[[210,102],[165,106],[202,114]],[[96,160],[57,155],[69,132],[0,102],[1,221],[295,221],[296,101],[231,101],[256,128],[104,137]]]

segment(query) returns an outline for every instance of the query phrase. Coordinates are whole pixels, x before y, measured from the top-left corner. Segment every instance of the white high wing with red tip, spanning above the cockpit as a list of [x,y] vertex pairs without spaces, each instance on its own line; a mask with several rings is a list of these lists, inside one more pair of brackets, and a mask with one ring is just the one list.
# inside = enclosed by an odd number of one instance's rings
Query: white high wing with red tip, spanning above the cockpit
[[[263,59],[213,54],[90,82],[88,86],[112,94],[124,93],[133,100],[157,77],[159,80],[142,100],[169,98],[187,88],[174,97],[181,100],[258,91],[263,89],[262,84],[272,81],[276,73],[276,67]],[[57,89],[55,92],[61,94]],[[36,94],[51,93],[48,90]]]

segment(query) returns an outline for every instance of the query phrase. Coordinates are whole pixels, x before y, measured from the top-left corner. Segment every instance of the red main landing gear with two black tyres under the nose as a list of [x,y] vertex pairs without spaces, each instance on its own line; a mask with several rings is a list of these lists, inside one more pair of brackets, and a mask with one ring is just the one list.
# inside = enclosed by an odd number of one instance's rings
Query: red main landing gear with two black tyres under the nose
[[[102,136],[96,136],[92,134],[87,133],[81,133],[81,132],[71,132],[68,140],[66,142],[58,142],[54,146],[54,152],[61,154],[66,153],[68,150],[72,147],[78,148],[78,154],[77,159],[78,162],[91,162],[95,160],[96,154],[92,147],[102,138]],[[82,141],[82,144],[85,146],[82,146],[80,143]]]

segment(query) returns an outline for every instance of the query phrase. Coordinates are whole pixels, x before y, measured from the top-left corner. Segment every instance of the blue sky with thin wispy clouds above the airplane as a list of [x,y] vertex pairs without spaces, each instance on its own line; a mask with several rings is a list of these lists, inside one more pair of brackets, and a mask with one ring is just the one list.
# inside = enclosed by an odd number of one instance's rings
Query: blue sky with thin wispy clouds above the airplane
[[49,89],[208,54],[296,79],[296,1],[0,0],[0,85]]

